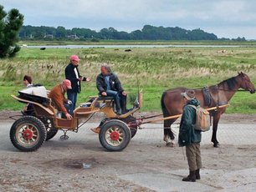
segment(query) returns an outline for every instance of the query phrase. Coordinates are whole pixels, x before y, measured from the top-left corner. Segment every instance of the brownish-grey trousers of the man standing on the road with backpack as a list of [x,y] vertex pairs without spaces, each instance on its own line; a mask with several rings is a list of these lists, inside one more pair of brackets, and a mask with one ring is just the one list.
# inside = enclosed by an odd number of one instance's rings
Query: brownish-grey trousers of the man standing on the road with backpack
[[190,171],[202,168],[200,143],[190,144],[186,146],[186,155]]

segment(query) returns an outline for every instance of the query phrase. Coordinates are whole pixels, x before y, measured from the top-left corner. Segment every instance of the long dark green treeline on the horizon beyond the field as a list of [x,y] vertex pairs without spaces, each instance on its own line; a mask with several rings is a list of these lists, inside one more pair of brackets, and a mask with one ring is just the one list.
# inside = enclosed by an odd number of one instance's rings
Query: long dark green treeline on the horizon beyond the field
[[102,28],[100,32],[91,30],[90,28],[72,28],[64,27],[33,27],[23,26],[19,33],[20,39],[34,40],[92,40],[100,39],[115,39],[115,40],[218,40],[218,37],[213,33],[204,32],[197,28],[186,30],[183,28],[164,28],[145,25],[141,30],[127,33],[117,31],[115,28]]

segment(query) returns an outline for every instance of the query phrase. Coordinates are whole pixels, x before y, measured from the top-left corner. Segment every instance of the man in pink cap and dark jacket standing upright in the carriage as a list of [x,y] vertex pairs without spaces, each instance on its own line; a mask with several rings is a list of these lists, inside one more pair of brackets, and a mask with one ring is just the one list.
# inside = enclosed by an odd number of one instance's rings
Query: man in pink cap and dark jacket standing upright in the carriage
[[65,77],[71,82],[72,88],[67,91],[68,99],[72,102],[73,106],[70,111],[74,111],[77,101],[77,94],[81,92],[81,81],[89,82],[90,78],[85,78],[79,73],[79,57],[77,55],[70,56],[70,63],[65,68]]

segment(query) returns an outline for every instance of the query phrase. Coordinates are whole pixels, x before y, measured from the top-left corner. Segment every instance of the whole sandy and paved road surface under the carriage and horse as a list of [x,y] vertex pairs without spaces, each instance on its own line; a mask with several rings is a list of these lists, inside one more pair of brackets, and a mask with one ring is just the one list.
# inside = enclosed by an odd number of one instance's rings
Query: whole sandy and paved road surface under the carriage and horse
[[[187,175],[185,149],[166,147],[162,124],[146,124],[121,152],[102,148],[90,131],[100,117],[84,124],[69,140],[62,132],[35,152],[19,152],[9,139],[13,112],[0,118],[0,191],[255,191],[256,118],[223,115],[220,147],[212,147],[211,131],[202,134],[202,179]],[[15,113],[14,113],[15,114]],[[141,115],[141,114],[138,114]],[[142,114],[145,115],[145,114]],[[178,133],[178,125],[172,129]]]

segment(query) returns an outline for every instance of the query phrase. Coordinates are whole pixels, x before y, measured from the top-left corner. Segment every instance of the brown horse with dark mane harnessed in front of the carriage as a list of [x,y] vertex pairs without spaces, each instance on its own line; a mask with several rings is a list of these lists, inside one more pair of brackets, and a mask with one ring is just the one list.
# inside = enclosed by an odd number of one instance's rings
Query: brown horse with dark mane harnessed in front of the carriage
[[[195,89],[196,98],[200,101],[202,108],[218,107],[219,105],[228,104],[228,101],[233,97],[233,94],[238,91],[238,88],[243,88],[250,93],[255,93],[255,87],[245,73],[238,73],[233,78],[228,78],[217,85],[203,89]],[[184,106],[184,99],[182,99],[182,92],[189,88],[172,88],[166,90],[161,96],[161,109],[164,117],[169,117],[176,114],[182,114]],[[208,97],[206,97],[208,95]],[[212,125],[212,143],[214,147],[218,147],[218,140],[216,137],[218,129],[218,121],[221,114],[225,112],[225,108],[211,111],[213,117]],[[164,120],[164,141],[166,145],[174,144],[174,134],[172,133],[171,125],[177,119]],[[171,139],[171,140],[170,140]]]

